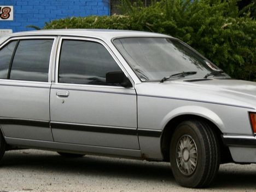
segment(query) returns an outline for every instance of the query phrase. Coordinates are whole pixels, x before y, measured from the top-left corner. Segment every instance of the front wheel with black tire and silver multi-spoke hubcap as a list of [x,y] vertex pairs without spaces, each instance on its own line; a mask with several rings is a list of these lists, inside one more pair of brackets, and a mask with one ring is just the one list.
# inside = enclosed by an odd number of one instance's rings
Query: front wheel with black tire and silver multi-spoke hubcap
[[219,170],[216,133],[204,121],[183,121],[171,139],[170,162],[178,184],[188,188],[207,187]]

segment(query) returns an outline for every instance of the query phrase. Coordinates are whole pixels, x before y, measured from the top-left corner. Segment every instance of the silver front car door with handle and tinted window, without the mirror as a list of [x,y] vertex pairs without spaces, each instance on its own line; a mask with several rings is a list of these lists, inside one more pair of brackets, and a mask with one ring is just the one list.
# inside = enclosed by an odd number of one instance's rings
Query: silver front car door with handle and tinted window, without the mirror
[[124,71],[106,44],[62,37],[59,54],[50,94],[54,141],[139,149],[136,92],[106,83],[106,73]]

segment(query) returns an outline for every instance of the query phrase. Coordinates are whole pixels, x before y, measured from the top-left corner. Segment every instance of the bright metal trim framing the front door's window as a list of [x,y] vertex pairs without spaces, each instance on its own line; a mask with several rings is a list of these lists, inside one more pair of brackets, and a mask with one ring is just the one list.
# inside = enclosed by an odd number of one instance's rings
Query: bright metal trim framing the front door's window
[[[61,54],[61,46],[63,40],[84,40],[84,41],[89,41],[89,42],[95,42],[95,43],[100,43],[101,45],[104,46],[104,48],[107,49],[108,53],[112,56],[114,61],[117,63],[117,65],[120,67],[120,69],[125,73],[126,77],[130,80],[132,83],[132,88],[124,88],[123,86],[109,86],[109,85],[88,85],[88,84],[71,84],[71,83],[59,83],[59,64],[60,64],[60,54]],[[57,48],[57,56],[56,56],[56,62],[55,62],[55,83],[56,84],[62,84],[62,85],[72,85],[72,86],[89,86],[89,87],[95,87],[95,88],[117,88],[117,89],[135,89],[135,83],[133,79],[130,77],[129,73],[127,73],[126,69],[121,65],[120,61],[117,59],[117,56],[113,53],[113,51],[109,48],[109,46],[103,42],[100,39],[95,39],[95,38],[87,38],[87,37],[69,37],[69,36],[61,36],[59,39],[59,44]]]

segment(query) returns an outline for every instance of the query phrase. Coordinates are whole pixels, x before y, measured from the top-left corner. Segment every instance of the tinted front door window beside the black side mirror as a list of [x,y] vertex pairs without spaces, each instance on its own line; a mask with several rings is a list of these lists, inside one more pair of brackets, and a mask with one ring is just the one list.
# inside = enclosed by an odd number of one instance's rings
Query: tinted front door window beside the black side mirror
[[85,40],[63,40],[59,62],[59,83],[110,85],[108,72],[121,71],[106,48]]

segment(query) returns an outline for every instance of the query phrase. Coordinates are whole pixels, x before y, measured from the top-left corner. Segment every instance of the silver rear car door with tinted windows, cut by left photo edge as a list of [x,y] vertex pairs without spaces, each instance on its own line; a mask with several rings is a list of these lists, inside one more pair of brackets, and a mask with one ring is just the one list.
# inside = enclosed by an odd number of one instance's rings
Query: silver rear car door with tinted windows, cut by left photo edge
[[5,137],[53,141],[49,69],[55,42],[55,37],[20,37],[0,48],[0,125]]

